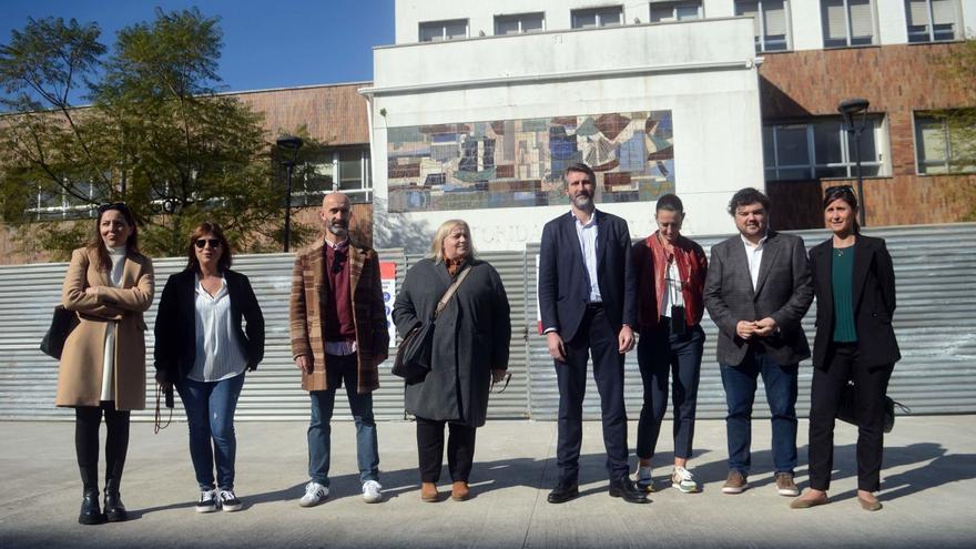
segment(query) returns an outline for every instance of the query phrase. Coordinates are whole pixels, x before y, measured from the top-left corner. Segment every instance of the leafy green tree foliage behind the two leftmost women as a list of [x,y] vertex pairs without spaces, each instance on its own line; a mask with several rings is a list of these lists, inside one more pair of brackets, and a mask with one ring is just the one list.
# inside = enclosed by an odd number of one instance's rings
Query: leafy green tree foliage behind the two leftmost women
[[[261,114],[217,93],[222,33],[197,9],[163,12],[121,30],[112,54],[96,24],[29,20],[0,47],[0,85],[12,114],[0,118],[0,216],[22,227],[41,205],[87,215],[124,201],[151,255],[182,255],[201,221],[224,226],[240,252],[279,242],[284,194]],[[81,83],[90,106],[74,108]],[[43,201],[42,201],[43,202]],[[26,213],[27,212],[27,213]],[[91,221],[80,223],[90,227]],[[71,250],[72,223],[50,223],[39,245]],[[293,245],[309,227],[295,226]],[[275,246],[277,247],[277,246]]]

